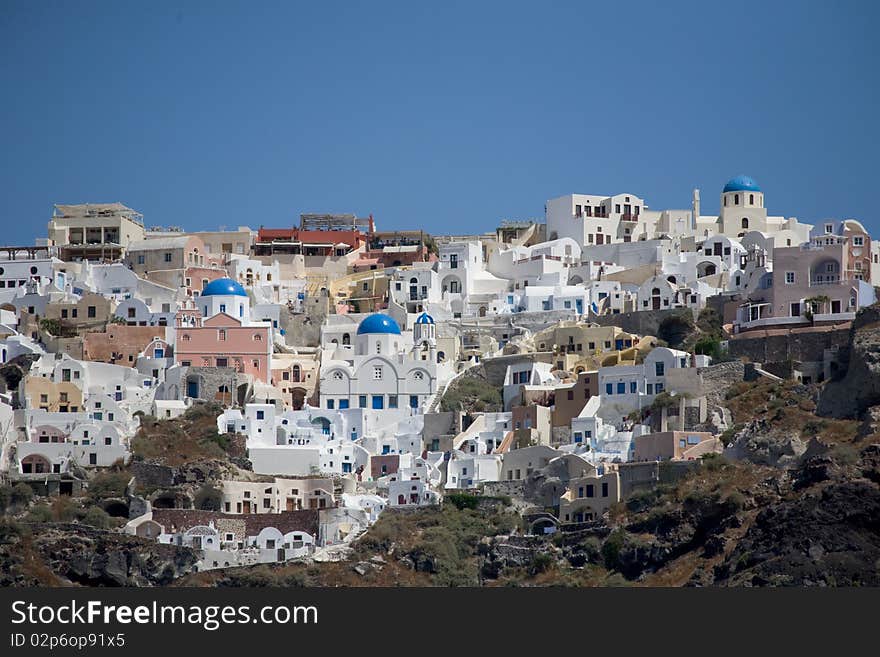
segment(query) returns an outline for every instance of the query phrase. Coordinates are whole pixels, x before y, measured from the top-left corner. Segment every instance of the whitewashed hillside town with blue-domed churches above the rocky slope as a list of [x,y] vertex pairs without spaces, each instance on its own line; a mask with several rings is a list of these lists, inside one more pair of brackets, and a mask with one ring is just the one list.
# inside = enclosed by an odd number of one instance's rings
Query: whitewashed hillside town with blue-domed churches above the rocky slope
[[190,231],[55,205],[45,236],[0,247],[4,505],[187,548],[172,579],[337,562],[449,504],[514,513],[510,546],[590,531],[754,457],[731,391],[830,394],[851,370],[880,241],[722,183],[717,215],[696,189],[669,209],[573,193],[472,235],[384,231],[369,209]]

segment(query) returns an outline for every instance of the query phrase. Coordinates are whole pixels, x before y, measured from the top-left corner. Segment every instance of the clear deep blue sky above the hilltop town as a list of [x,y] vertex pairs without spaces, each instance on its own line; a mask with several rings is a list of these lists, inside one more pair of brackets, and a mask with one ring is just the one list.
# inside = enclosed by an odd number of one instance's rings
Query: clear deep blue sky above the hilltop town
[[475,232],[571,192],[874,213],[876,2],[0,4],[4,243],[147,225]]

